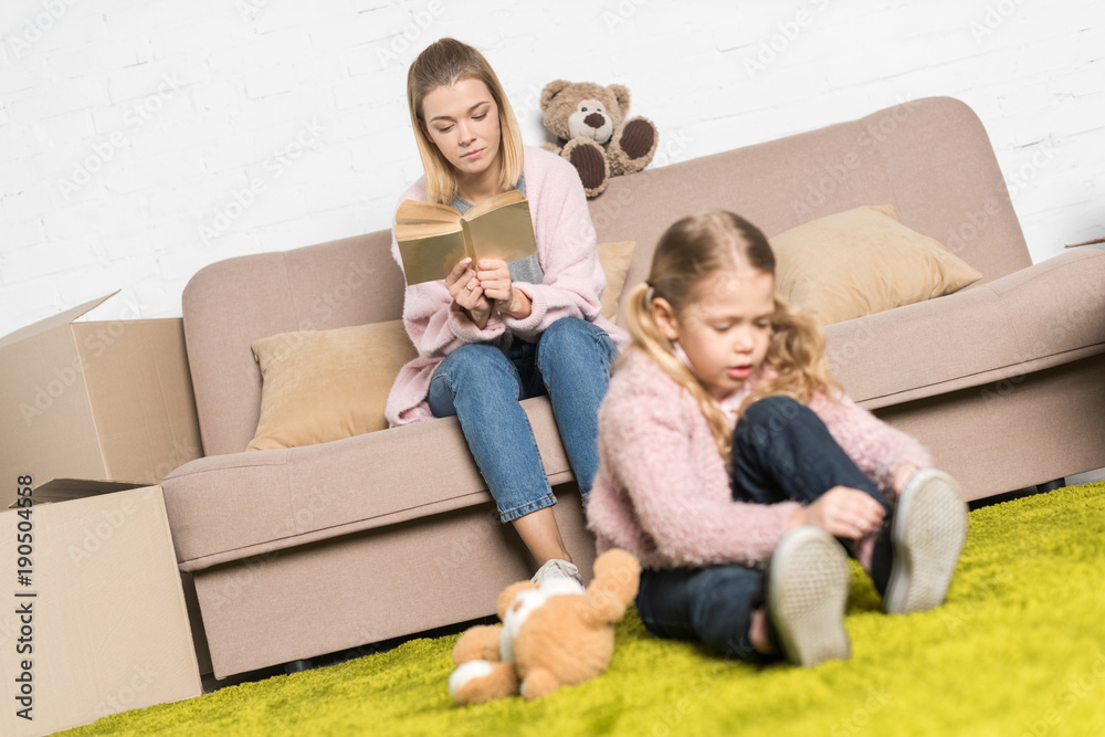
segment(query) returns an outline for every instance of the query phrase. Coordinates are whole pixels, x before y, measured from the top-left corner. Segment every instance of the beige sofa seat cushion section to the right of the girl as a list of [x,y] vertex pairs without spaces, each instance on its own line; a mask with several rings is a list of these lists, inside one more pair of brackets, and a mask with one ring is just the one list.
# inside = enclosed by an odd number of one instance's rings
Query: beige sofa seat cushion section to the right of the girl
[[867,409],[1105,352],[1105,250],[825,328],[825,357]]

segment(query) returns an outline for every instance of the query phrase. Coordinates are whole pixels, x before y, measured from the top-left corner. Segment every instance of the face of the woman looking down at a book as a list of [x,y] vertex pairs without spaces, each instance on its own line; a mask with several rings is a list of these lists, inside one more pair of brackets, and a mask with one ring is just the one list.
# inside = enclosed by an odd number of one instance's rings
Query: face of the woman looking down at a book
[[438,87],[422,101],[424,130],[460,178],[497,173],[498,105],[482,80]]

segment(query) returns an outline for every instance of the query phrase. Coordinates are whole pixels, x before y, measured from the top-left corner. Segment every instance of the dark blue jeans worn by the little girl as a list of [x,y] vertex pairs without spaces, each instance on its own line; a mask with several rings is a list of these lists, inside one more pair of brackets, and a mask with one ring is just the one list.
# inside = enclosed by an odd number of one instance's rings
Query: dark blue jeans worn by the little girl
[[[734,499],[809,504],[833,486],[866,492],[891,509],[808,407],[787,397],[767,397],[748,407],[733,433]],[[842,543],[851,552],[851,540]],[[699,640],[722,655],[760,662],[765,659],[753,649],[748,628],[764,599],[765,571],[759,568],[646,568],[636,609],[645,629],[657,636]]]

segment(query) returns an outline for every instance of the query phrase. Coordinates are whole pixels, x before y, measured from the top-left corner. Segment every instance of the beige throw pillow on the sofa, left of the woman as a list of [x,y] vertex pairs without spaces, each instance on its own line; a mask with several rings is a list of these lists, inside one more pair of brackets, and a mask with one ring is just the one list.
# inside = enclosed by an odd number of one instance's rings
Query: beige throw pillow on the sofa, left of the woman
[[402,366],[415,358],[402,320],[254,340],[261,419],[246,450],[297,448],[388,427],[383,406]]

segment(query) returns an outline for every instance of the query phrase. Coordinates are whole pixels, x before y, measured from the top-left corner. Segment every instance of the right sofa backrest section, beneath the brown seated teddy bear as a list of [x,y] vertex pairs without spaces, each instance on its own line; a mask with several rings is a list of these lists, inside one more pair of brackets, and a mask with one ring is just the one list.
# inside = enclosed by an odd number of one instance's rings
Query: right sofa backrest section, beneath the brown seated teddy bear
[[986,129],[950,97],[615,177],[591,201],[591,219],[599,242],[636,241],[628,289],[648,276],[656,241],[683,214],[732,210],[771,238],[834,212],[886,203],[902,224],[981,272],[974,286],[1032,264]]

